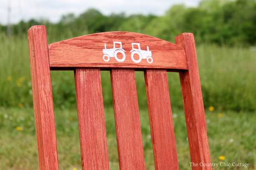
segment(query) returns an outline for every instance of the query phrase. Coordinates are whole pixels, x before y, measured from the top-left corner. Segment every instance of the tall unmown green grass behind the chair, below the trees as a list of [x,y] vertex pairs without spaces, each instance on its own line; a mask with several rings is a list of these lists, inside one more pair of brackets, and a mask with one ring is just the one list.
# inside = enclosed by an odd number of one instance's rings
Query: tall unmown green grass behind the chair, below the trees
[[[61,39],[60,39],[61,40]],[[58,40],[48,37],[48,43]],[[249,48],[219,47],[201,44],[196,46],[204,106],[219,110],[256,110],[256,51]],[[146,106],[143,95],[143,74],[136,74],[139,105]],[[76,105],[73,71],[51,71],[54,104],[69,108]],[[183,108],[179,75],[169,73],[172,105]],[[102,72],[104,104],[111,106],[109,72]],[[32,107],[31,77],[28,42],[26,36],[8,40],[0,34],[0,106]]]

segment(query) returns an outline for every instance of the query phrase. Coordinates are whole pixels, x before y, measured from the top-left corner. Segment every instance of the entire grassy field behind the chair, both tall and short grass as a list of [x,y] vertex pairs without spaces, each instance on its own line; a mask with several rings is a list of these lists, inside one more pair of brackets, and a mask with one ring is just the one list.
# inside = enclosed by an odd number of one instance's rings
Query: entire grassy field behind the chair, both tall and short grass
[[[48,43],[64,40],[48,37]],[[209,44],[196,46],[212,163],[249,163],[220,170],[256,169],[256,51]],[[154,169],[143,72],[136,72],[145,165]],[[109,71],[101,72],[108,154],[119,169]],[[81,170],[73,71],[51,71],[59,167]],[[180,170],[191,169],[178,73],[168,73]],[[38,169],[26,35],[0,34],[0,170]],[[209,107],[215,108],[209,111]],[[75,169],[74,169],[75,168]]]

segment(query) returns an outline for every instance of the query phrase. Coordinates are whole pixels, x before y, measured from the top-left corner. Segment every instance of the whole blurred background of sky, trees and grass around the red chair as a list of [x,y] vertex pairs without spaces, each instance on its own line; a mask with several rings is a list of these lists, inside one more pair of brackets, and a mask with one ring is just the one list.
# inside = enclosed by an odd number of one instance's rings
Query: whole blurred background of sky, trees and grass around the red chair
[[[195,36],[212,163],[256,169],[256,1],[1,1],[0,169],[38,169],[27,30],[44,25],[48,44],[130,31],[175,43]],[[143,72],[136,72],[145,165],[154,169]],[[59,167],[81,170],[73,71],[51,71]],[[101,71],[110,169],[119,169],[110,73]],[[191,169],[178,73],[168,73],[180,169]],[[214,168],[213,168],[214,169]]]

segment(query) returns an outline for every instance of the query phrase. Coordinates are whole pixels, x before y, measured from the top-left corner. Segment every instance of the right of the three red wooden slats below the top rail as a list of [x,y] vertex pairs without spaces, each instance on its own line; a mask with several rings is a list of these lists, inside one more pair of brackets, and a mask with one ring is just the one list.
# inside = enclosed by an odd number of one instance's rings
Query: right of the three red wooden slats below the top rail
[[178,170],[166,70],[144,71],[156,170]]

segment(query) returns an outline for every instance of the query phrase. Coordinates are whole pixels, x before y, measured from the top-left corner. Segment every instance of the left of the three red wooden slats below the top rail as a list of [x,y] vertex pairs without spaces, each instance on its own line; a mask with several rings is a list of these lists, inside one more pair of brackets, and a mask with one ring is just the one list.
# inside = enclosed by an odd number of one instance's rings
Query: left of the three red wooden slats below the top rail
[[109,170],[99,68],[76,68],[76,102],[83,170]]

